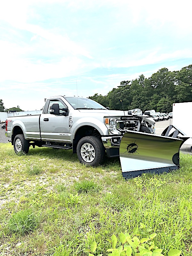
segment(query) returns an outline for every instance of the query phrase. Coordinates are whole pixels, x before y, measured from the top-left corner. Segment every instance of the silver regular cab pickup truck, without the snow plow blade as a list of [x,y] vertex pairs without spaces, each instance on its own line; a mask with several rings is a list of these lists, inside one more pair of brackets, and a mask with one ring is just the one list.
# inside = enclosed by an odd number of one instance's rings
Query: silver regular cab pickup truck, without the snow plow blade
[[56,96],[43,111],[8,114],[5,135],[16,153],[28,153],[30,146],[73,149],[81,163],[95,166],[103,163],[105,151],[119,156],[125,132],[153,134],[154,124],[140,109],[109,110],[88,98]]

